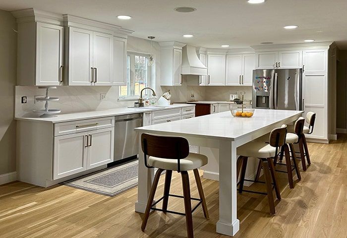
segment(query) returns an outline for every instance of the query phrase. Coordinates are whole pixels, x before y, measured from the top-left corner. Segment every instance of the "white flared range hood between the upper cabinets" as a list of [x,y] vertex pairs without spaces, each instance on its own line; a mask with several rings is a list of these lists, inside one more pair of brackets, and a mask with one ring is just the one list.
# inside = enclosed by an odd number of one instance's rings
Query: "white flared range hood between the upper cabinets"
[[182,48],[182,74],[207,75],[207,67],[199,60],[194,46]]

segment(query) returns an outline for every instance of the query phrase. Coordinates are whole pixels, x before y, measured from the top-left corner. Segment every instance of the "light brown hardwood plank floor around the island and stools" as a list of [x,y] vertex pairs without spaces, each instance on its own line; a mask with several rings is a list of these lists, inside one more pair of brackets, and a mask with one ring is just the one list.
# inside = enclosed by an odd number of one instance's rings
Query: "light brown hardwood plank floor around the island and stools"
[[[312,165],[302,180],[289,189],[279,173],[282,200],[276,215],[269,214],[267,197],[238,194],[240,230],[236,238],[346,238],[347,136],[331,144],[309,144]],[[300,167],[300,171],[302,171]],[[192,197],[199,197],[189,174]],[[156,197],[164,189],[162,176]],[[296,177],[294,177],[296,179]],[[261,178],[262,179],[262,178]],[[193,213],[196,238],[222,238],[215,233],[218,220],[218,182],[202,179],[210,219],[199,207]],[[253,189],[265,189],[252,185]],[[1,238],[184,238],[182,216],[153,212],[145,232],[143,215],[134,212],[137,188],[107,197],[64,185],[41,188],[22,182],[0,186]],[[181,180],[173,173],[171,193],[182,194]],[[194,204],[194,203],[193,203]],[[169,209],[184,211],[183,201],[170,198]]]

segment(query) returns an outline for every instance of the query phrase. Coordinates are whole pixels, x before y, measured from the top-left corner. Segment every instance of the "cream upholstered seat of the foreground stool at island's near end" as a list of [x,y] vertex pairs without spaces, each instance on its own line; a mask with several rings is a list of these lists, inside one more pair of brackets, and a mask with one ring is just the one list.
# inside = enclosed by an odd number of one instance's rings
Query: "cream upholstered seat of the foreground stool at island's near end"
[[[204,165],[207,165],[207,156],[189,153],[189,155],[186,158],[180,159],[179,163],[181,171],[195,170]],[[149,156],[148,165],[163,170],[177,171],[177,160],[173,159],[164,159]]]

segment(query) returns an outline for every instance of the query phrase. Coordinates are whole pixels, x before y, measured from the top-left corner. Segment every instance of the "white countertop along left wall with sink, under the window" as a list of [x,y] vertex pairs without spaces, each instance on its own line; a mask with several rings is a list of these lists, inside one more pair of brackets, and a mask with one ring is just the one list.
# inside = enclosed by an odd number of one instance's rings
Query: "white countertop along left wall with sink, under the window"
[[[160,108],[155,108],[160,107]],[[152,111],[160,111],[160,110],[169,110],[174,108],[184,108],[191,107],[189,104],[173,104],[170,106],[155,106],[155,107],[146,107],[145,109],[137,109],[137,108],[114,108],[114,109],[106,109],[100,111],[88,111],[88,112],[80,112],[80,113],[69,113],[69,114],[60,114],[57,117],[53,118],[26,118],[20,117],[15,118],[16,120],[30,120],[30,121],[42,121],[42,122],[65,122],[65,121],[73,121],[73,120],[83,120],[83,119],[94,119],[94,118],[104,118],[104,117],[112,117],[112,116],[121,116],[135,113],[146,113]]]

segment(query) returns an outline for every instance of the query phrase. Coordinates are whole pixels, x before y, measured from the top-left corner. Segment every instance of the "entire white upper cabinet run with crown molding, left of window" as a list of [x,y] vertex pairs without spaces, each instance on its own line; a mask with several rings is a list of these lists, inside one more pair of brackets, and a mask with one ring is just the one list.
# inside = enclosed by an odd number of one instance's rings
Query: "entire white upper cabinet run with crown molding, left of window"
[[17,85],[125,85],[132,31],[33,8],[12,14],[18,23]]

